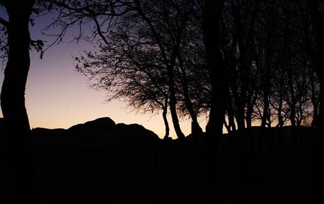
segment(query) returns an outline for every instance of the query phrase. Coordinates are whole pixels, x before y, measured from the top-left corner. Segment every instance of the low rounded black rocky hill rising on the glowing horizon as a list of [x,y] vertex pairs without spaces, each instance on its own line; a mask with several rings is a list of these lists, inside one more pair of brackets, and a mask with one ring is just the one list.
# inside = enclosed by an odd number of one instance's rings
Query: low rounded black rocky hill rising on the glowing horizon
[[142,125],[116,123],[111,118],[97,118],[86,123],[74,125],[69,129],[47,129],[37,127],[32,130],[35,139],[52,139],[54,142],[78,142],[122,144],[158,140],[151,130]]

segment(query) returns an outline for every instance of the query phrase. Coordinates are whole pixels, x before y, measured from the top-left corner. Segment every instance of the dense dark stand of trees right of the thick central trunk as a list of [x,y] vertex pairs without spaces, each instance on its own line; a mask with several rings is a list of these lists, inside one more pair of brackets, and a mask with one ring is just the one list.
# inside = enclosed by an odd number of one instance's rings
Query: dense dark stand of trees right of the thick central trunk
[[311,125],[318,116],[319,81],[305,49],[303,24],[309,25],[309,14],[300,14],[307,10],[305,1],[296,2],[226,1],[222,53],[231,76],[228,128],[236,130],[232,120],[238,130],[253,121],[262,127]]

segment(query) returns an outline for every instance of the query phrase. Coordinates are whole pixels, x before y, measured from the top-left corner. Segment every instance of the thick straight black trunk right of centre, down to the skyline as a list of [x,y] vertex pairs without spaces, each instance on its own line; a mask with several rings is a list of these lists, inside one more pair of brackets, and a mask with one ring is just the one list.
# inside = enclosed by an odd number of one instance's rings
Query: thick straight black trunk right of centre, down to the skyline
[[206,60],[211,79],[211,109],[209,121],[206,125],[206,133],[210,136],[221,136],[224,123],[227,77],[225,65],[220,52],[220,17],[225,0],[204,1],[204,45]]

